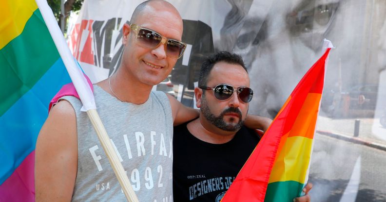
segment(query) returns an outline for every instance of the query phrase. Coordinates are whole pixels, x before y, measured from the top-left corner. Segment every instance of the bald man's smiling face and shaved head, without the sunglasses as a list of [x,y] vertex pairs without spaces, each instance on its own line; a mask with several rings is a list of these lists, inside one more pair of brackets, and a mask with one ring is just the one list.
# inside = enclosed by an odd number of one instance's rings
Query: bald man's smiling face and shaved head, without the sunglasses
[[[152,30],[162,38],[182,40],[182,18],[177,9],[164,0],[148,0],[139,4],[130,23]],[[141,42],[137,43],[138,30],[132,31],[129,24],[124,24],[122,31],[124,49],[119,69],[127,71],[122,74],[131,76],[138,84],[152,87],[167,78],[177,62],[177,58],[166,54],[167,44],[158,43],[156,47],[147,48]]]

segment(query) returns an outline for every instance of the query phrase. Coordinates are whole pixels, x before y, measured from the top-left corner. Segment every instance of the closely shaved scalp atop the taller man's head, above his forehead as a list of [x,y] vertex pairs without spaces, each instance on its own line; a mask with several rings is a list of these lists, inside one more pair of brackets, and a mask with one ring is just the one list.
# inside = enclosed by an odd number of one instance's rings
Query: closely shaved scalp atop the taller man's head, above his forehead
[[175,7],[165,1],[165,0],[147,0],[147,1],[144,1],[142,3],[140,3],[134,10],[133,12],[133,15],[130,19],[130,23],[136,23],[137,19],[143,15],[146,15],[146,10],[147,9],[154,9],[154,10],[168,10],[169,12],[173,12],[175,14],[177,14],[177,16],[180,18],[180,20],[182,21],[182,18],[179,14],[179,12],[177,11],[177,9],[175,9]]

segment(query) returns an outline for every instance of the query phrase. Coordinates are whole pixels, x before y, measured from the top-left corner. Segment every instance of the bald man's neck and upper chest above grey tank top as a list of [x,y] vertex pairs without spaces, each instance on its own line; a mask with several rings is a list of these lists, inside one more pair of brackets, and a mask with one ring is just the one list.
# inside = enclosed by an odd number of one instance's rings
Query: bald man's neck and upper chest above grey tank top
[[143,104],[149,99],[153,86],[134,81],[135,79],[133,79],[130,74],[118,69],[117,72],[111,76],[110,85],[109,79],[103,80],[97,83],[97,85],[110,95],[119,97],[117,98],[118,100],[133,104]]

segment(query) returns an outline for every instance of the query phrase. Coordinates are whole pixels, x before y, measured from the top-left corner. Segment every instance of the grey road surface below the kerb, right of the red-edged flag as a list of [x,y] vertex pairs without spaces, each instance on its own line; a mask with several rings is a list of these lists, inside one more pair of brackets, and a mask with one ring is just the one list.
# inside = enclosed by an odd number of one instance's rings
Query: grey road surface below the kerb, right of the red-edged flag
[[314,140],[312,202],[386,202],[385,151],[319,134]]

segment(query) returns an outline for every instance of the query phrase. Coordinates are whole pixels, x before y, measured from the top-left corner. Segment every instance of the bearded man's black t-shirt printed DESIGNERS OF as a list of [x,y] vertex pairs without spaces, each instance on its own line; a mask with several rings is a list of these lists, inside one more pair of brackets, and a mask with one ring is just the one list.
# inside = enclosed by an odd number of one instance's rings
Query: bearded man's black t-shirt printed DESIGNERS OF
[[260,138],[242,127],[231,141],[211,144],[194,137],[186,126],[174,127],[174,202],[219,202]]

